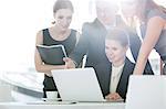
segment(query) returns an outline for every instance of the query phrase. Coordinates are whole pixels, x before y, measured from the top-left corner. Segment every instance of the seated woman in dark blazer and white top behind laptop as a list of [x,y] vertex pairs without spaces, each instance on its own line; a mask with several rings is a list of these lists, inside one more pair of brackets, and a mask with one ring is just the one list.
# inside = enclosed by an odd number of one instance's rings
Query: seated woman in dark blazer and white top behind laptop
[[128,77],[133,74],[134,64],[126,57],[129,41],[121,29],[108,31],[105,39],[106,63],[98,64],[96,75],[103,95],[107,100],[125,99]]

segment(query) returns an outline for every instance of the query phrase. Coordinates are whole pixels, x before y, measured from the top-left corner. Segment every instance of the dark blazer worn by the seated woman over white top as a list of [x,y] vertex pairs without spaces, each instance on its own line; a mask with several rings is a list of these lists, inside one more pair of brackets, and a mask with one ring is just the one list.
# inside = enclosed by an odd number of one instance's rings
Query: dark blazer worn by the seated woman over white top
[[[133,64],[128,58],[125,59],[125,65],[123,67],[123,72],[116,89],[116,92],[118,92],[118,95],[124,99],[126,98],[128,77],[133,74],[134,66],[135,64]],[[103,96],[105,97],[110,94],[112,64],[107,61],[105,63],[98,64],[95,69]]]

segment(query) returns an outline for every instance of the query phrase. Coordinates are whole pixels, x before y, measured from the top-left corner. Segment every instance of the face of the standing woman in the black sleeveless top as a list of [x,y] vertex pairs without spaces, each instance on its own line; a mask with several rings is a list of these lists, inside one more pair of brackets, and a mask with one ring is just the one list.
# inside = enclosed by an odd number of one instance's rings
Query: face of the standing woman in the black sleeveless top
[[65,31],[69,29],[72,21],[73,12],[70,9],[60,9],[54,13],[55,26],[60,30]]

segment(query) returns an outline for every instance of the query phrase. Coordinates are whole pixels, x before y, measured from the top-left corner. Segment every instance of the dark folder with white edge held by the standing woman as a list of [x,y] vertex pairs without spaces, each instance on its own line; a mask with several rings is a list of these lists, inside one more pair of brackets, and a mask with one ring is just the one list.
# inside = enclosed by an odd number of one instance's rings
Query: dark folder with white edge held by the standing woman
[[63,45],[37,45],[42,61],[45,64],[64,65],[63,57],[68,57]]

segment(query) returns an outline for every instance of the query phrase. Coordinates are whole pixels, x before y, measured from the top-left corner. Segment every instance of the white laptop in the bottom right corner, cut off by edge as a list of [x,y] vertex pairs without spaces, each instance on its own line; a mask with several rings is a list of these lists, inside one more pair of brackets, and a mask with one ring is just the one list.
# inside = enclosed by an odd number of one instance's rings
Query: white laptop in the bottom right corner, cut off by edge
[[166,109],[166,76],[132,75],[125,109]]

